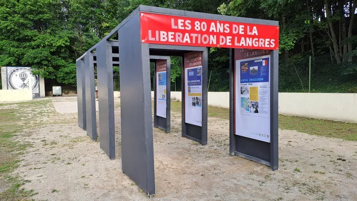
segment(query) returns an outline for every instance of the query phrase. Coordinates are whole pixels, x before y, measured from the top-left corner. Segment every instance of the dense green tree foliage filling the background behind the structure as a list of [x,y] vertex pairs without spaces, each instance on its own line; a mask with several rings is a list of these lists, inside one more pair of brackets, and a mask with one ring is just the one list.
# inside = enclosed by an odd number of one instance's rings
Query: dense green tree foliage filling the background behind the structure
[[[324,68],[357,73],[356,0],[0,0],[0,66],[31,66],[45,79],[75,86],[75,59],[140,4],[278,20],[287,72],[310,55],[328,55],[336,65]],[[171,62],[171,80],[179,85],[181,59]],[[228,89],[227,68],[228,50],[211,48],[210,90]]]

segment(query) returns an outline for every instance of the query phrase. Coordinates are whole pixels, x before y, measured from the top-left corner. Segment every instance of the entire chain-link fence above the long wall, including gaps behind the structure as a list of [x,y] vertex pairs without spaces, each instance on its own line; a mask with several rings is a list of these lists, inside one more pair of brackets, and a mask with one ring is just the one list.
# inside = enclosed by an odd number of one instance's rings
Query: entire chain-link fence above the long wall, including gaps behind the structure
[[[151,90],[154,90],[151,74]],[[114,91],[120,91],[119,74],[113,74]],[[209,91],[229,91],[230,70],[208,71]],[[181,91],[181,77],[171,82],[171,91]],[[357,93],[357,60],[341,64],[330,55],[279,58],[279,92]]]

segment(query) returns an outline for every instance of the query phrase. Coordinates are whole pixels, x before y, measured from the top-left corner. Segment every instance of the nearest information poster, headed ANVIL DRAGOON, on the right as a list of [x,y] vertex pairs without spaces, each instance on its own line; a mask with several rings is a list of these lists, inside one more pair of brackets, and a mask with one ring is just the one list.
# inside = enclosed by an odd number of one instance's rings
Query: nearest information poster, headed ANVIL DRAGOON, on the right
[[270,142],[270,51],[235,49],[235,134]]

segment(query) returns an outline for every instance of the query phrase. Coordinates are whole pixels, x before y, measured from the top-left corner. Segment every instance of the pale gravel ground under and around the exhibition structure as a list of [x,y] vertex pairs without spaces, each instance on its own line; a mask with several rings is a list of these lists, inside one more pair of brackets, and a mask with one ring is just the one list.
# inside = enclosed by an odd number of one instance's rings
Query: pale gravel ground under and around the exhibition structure
[[[31,128],[33,143],[14,174],[36,200],[145,200],[121,171],[120,101],[115,98],[117,157],[109,160],[77,124],[73,97],[52,98],[56,123]],[[98,115],[98,113],[97,113]],[[48,118],[48,117],[47,117]],[[41,119],[39,119],[41,120]],[[357,200],[357,142],[279,130],[279,169],[228,155],[228,120],[209,118],[208,145],[181,137],[181,114],[171,133],[154,129],[158,200]],[[100,135],[100,134],[99,134]]]

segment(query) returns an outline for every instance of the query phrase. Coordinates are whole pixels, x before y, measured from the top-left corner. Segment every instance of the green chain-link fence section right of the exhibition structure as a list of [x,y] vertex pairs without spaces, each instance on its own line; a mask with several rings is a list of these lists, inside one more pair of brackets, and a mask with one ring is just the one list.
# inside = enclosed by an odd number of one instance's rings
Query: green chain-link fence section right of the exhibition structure
[[357,93],[357,61],[329,56],[279,62],[279,92]]

